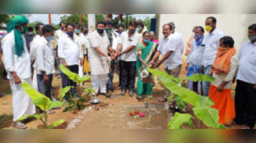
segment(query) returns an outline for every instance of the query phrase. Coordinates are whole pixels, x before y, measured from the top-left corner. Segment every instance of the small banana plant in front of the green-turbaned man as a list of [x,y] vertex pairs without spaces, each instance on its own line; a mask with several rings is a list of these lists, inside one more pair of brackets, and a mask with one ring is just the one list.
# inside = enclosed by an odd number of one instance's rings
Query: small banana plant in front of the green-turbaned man
[[56,121],[56,122],[52,123],[50,126],[48,126],[48,116],[49,116],[48,111],[51,110],[51,109],[54,109],[56,107],[63,107],[63,105],[65,103],[60,102],[60,101],[52,102],[50,100],[50,98],[48,98],[44,94],[39,93],[38,91],[33,89],[33,87],[31,87],[26,82],[22,83],[22,87],[23,87],[24,91],[33,100],[33,103],[35,103],[35,105],[37,107],[39,107],[41,110],[44,111],[44,114],[35,114],[35,115],[29,115],[29,116],[22,116],[19,119],[17,119],[15,122],[35,117],[36,119],[40,119],[40,121],[42,121],[42,123],[44,124],[44,127],[46,129],[54,128],[54,127],[59,126],[60,124],[65,122],[64,119],[60,119],[59,121]]

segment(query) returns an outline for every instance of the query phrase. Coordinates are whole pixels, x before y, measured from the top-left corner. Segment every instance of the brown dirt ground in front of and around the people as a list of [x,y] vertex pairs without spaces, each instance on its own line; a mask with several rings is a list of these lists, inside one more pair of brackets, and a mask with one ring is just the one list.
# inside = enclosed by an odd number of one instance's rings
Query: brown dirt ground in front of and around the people
[[[186,61],[184,59],[184,61]],[[0,72],[3,68],[0,68]],[[181,77],[186,77],[186,70],[182,67]],[[0,128],[10,129],[13,128],[12,124],[12,94],[10,92],[10,85],[8,80],[0,78],[0,93],[6,93],[6,96],[0,98]],[[58,99],[58,95],[61,91],[61,79],[54,77],[52,86],[53,96]],[[114,89],[118,87],[118,75],[114,77]],[[84,87],[92,87],[90,82],[86,82]],[[145,100],[139,102],[136,100],[136,96],[129,97],[128,94],[120,96],[120,91],[114,91],[111,98],[105,96],[99,96],[102,101],[100,105],[92,105],[90,103],[84,103],[85,109],[92,107],[78,124],[77,128],[129,128],[129,129],[143,129],[143,128],[166,128],[170,114],[163,111],[163,103],[157,102],[161,96],[163,96],[163,87],[156,83],[153,88],[153,100]],[[145,109],[143,105],[145,102],[156,107]],[[138,107],[139,106],[139,107]],[[150,110],[154,111],[150,111]],[[83,110],[75,112],[63,112],[64,108],[55,110],[56,113],[49,116],[49,124],[58,121],[59,119],[65,119],[65,123],[61,124],[57,128],[67,128],[68,124],[72,123],[74,119],[77,119]],[[133,119],[129,116],[129,112],[132,110],[141,110],[145,112],[146,117],[143,119]],[[36,129],[42,126],[39,120],[32,120],[26,123],[29,129]],[[240,126],[230,126],[230,128],[239,128]]]

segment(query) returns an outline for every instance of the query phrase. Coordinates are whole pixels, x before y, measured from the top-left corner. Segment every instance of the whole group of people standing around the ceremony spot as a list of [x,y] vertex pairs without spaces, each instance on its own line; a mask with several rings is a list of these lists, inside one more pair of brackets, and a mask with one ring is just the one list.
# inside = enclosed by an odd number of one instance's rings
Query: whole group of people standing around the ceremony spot
[[[188,87],[211,98],[215,103],[212,107],[219,110],[221,124],[236,123],[242,124],[243,128],[253,128],[256,122],[256,98],[253,96],[256,94],[256,24],[248,27],[250,41],[246,41],[236,54],[233,38],[217,29],[216,21],[215,17],[207,17],[205,29],[195,26],[185,51],[187,77],[202,73],[215,80],[202,83],[188,81]],[[81,77],[90,75],[92,88],[96,92],[93,96],[111,96],[115,67],[118,67],[119,75],[117,89],[122,95],[128,91],[131,97],[136,89],[138,100],[153,98],[155,83],[154,80],[143,81],[141,73],[145,69],[158,68],[163,64],[166,73],[173,77],[180,76],[185,44],[182,34],[175,31],[173,22],[163,25],[160,41],[156,40],[153,31],[147,30],[142,20],[129,22],[127,31],[122,24],[115,30],[111,20],[99,21],[96,30],[91,33],[85,26],[64,22],[60,22],[60,29],[54,33],[52,26],[40,23],[36,25],[36,35],[30,43],[22,36],[28,31],[27,24],[26,17],[19,15],[13,18],[8,22],[8,34],[2,40],[4,66],[13,93],[13,121],[35,114],[35,105],[21,86],[21,82],[32,84],[31,67],[33,87],[51,100],[54,100],[51,95],[54,73],[61,78],[63,88],[76,87],[75,82],[61,73],[60,64]],[[209,33],[206,36],[205,31]],[[52,48],[52,41],[56,41],[56,49]],[[26,48],[28,44],[29,48]],[[135,88],[136,72],[138,80]],[[235,103],[231,96],[234,79],[237,79]],[[172,94],[168,89],[164,91],[159,102],[166,102]],[[79,96],[76,88],[72,88],[71,92]],[[68,98],[67,94],[65,100]],[[13,125],[26,128],[21,122]]]

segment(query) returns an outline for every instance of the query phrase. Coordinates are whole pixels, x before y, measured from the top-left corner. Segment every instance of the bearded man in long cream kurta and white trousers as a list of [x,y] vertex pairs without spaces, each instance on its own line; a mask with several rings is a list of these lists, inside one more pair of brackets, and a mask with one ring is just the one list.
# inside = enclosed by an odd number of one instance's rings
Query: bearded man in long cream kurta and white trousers
[[[111,59],[108,57],[108,51],[112,52],[108,35],[106,34],[105,23],[97,22],[97,31],[94,31],[88,36],[90,49],[88,49],[88,57],[90,68],[92,70],[92,88],[98,94],[100,93],[111,96],[107,93],[106,77],[109,73]],[[96,94],[93,94],[96,96]]]

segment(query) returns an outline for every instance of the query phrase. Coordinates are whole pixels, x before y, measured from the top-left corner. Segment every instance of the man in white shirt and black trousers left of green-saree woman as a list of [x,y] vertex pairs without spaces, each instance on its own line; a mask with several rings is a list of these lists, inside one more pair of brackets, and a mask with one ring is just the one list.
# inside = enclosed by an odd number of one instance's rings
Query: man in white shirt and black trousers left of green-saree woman
[[132,20],[129,23],[128,31],[125,31],[120,36],[118,49],[115,57],[120,57],[120,72],[121,77],[121,94],[124,95],[129,90],[129,96],[134,96],[134,84],[136,76],[136,47],[140,43],[140,34],[136,32],[138,24]]

